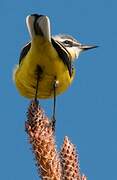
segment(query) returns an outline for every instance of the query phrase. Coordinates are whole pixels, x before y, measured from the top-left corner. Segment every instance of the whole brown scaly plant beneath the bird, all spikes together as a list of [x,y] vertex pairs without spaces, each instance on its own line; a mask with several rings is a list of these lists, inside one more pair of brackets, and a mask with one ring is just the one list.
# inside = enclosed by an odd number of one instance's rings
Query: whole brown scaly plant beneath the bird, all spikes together
[[87,180],[80,174],[76,148],[67,136],[57,153],[52,124],[36,101],[29,106],[25,128],[42,180]]

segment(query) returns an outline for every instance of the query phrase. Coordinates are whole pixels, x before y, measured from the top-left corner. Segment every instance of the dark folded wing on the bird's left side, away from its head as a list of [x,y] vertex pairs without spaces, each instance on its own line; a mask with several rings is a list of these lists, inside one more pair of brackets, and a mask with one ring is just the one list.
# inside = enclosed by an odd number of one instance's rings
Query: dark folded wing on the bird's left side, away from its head
[[31,47],[31,42],[29,42],[22,48],[19,58],[19,64],[21,63],[22,59],[27,55],[28,51],[30,50],[30,47]]

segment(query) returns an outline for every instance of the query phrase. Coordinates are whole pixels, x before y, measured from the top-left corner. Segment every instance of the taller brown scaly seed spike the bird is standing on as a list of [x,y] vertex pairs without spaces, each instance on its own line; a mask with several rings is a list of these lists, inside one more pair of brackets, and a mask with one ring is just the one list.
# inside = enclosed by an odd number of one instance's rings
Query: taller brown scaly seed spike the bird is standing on
[[32,144],[41,178],[44,180],[60,180],[61,165],[52,125],[35,101],[31,102],[28,109],[26,132]]

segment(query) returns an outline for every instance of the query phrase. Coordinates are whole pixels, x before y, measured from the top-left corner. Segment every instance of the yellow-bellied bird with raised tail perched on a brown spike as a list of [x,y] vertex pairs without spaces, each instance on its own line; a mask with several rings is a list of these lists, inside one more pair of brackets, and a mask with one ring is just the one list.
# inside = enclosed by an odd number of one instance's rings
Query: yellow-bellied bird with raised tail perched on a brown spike
[[81,44],[67,34],[52,36],[46,15],[28,15],[26,25],[30,41],[21,50],[13,79],[26,98],[54,98],[54,117],[56,96],[66,91],[74,79],[74,60],[81,52],[98,46]]

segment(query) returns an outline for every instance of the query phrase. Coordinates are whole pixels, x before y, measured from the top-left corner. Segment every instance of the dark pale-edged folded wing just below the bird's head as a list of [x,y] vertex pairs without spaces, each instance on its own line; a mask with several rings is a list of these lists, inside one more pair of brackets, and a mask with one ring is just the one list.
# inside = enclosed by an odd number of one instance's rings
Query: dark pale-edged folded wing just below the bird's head
[[66,52],[62,44],[60,44],[58,41],[51,38],[52,45],[56,49],[59,57],[62,59],[63,63],[67,66],[70,77],[72,76],[72,63],[69,58],[69,54]]

